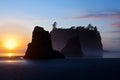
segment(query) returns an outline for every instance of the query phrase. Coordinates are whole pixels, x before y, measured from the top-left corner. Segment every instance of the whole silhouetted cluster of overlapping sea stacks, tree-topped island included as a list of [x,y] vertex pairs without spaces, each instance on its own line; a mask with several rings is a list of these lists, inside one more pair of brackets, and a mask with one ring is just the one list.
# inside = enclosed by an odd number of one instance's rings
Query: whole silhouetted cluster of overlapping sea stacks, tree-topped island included
[[66,57],[102,57],[103,45],[96,26],[56,28],[49,33],[42,27],[33,30],[25,59],[52,59]]

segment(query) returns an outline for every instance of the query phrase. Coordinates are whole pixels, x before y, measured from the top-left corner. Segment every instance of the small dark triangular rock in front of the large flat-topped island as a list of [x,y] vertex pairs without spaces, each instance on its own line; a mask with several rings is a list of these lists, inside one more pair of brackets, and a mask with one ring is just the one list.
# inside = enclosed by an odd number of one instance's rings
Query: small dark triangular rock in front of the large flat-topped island
[[79,42],[79,36],[72,37],[68,40],[66,46],[61,51],[65,56],[68,57],[82,57],[83,52]]

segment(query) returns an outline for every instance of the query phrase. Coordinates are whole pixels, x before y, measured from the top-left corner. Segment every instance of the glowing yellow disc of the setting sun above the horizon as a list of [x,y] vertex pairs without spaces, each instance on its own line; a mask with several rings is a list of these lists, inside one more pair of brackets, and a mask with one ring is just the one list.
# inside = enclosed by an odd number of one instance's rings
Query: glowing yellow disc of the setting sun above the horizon
[[15,39],[6,39],[3,45],[8,50],[13,50],[18,46]]

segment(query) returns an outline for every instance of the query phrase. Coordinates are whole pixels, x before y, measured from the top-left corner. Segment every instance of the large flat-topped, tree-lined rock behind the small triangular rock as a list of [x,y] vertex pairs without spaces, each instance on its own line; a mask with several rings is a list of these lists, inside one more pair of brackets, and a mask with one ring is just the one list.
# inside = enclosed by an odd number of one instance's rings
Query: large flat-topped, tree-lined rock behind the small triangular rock
[[55,29],[52,29],[50,32],[53,49],[62,51],[66,44],[68,45],[67,41],[78,35],[84,57],[102,57],[103,45],[101,42],[100,32],[97,30],[96,26],[89,24],[87,27],[72,26],[67,29],[57,27],[53,28]]

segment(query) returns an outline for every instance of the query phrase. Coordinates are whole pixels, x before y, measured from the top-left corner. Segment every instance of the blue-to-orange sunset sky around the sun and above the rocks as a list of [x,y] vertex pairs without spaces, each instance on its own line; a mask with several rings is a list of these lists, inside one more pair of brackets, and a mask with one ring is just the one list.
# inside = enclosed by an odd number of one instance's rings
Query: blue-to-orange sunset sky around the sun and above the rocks
[[101,32],[104,49],[120,49],[120,0],[0,0],[0,51],[5,40],[15,39],[25,51],[34,26],[51,31],[93,24]]

